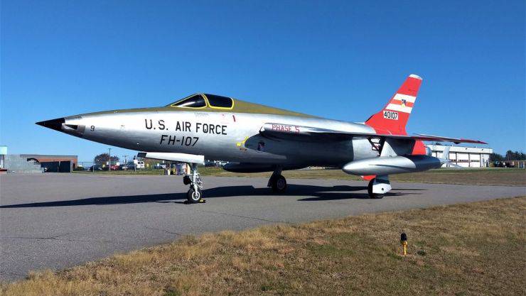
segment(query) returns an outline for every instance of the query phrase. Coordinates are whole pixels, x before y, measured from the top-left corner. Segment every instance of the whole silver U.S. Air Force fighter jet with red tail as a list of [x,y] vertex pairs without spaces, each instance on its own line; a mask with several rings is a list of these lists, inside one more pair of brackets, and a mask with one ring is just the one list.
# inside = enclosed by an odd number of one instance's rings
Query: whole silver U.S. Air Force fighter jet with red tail
[[481,143],[408,135],[422,78],[409,75],[387,104],[365,122],[323,119],[215,94],[192,94],[166,106],[102,111],[36,124],[90,141],[139,150],[139,156],[188,163],[188,202],[203,198],[198,165],[226,160],[230,172],[272,172],[268,187],[286,190],[283,170],[338,168],[368,180],[371,198],[392,187],[389,175],[440,168],[422,141]]

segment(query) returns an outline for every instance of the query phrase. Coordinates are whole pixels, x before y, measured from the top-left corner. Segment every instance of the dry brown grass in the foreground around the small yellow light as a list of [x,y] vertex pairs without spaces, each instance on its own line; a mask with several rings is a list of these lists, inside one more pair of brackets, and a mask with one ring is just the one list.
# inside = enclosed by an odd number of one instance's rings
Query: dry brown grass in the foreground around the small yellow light
[[518,197],[222,231],[32,273],[0,294],[525,295],[525,214]]

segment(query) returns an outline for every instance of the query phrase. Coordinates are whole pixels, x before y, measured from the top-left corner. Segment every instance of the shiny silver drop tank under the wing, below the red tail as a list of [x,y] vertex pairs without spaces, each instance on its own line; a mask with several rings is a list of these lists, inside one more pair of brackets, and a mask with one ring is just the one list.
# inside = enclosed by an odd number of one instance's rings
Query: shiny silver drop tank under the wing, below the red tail
[[440,168],[439,158],[428,155],[407,155],[392,157],[365,158],[351,161],[343,166],[343,172],[350,175],[393,175],[404,172],[422,172]]

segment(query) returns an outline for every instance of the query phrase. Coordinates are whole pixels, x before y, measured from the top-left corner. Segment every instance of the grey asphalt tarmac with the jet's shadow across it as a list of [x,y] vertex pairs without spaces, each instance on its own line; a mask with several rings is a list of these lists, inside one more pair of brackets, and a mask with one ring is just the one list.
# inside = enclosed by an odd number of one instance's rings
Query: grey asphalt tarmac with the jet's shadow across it
[[276,195],[259,177],[203,179],[206,203],[188,205],[177,176],[0,175],[0,280],[186,234],[526,195],[526,187],[394,182],[384,198],[368,199],[365,182],[306,179],[287,180]]

